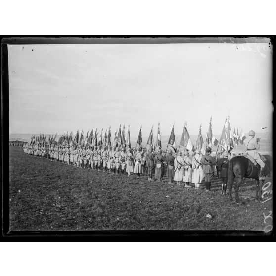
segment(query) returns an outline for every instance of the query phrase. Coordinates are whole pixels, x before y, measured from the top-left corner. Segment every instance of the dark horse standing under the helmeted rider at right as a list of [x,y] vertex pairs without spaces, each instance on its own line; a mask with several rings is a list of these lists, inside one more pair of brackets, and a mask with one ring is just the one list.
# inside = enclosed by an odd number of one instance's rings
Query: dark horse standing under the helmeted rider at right
[[[263,155],[265,157],[265,168],[263,174],[265,177],[269,176],[272,170],[272,157],[270,155]],[[262,183],[259,184],[259,170],[260,166],[254,166],[254,164],[245,156],[235,156],[233,157],[228,166],[228,182],[227,185],[229,186],[229,198],[232,202],[232,185],[234,179],[236,178],[236,184],[234,185],[235,189],[235,199],[236,202],[239,203],[239,196],[238,196],[238,189],[242,183],[243,178],[254,178],[256,182],[256,201],[263,201],[262,200],[262,186],[265,180],[262,180]],[[227,188],[225,187],[225,191]]]

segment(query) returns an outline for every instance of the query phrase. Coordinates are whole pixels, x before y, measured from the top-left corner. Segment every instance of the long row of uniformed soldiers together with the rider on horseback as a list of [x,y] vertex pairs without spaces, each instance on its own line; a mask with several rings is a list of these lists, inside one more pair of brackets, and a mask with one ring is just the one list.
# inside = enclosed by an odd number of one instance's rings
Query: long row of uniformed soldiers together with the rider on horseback
[[[260,148],[260,140],[254,138],[254,131],[250,131],[249,136],[245,155],[251,158],[254,164],[259,163],[262,171],[264,164],[257,152]],[[166,171],[169,184],[175,180],[177,185],[183,182],[185,187],[190,188],[190,184],[194,183],[195,189],[200,189],[200,184],[204,180],[207,192],[211,190],[215,167],[220,172],[222,185],[227,184],[228,162],[231,158],[228,151],[224,151],[219,158],[213,157],[210,147],[206,148],[204,155],[196,149],[195,154],[184,150],[184,153],[178,151],[174,154],[175,156],[171,149],[164,154],[161,148],[153,150],[152,147],[125,149],[124,146],[47,145],[44,142],[27,143],[23,146],[23,150],[28,155],[92,170],[102,169],[103,172],[109,174],[118,175],[120,172],[121,174],[126,172],[129,177],[131,173],[134,173],[139,178],[140,174],[147,173],[148,181],[153,180],[154,173],[154,178],[161,182]],[[165,167],[167,167],[166,170]]]

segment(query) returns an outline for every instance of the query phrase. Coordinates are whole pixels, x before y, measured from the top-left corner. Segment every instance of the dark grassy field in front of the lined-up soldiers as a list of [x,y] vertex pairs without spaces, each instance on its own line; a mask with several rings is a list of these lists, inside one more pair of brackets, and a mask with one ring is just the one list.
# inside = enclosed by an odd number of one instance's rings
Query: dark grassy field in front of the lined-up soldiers
[[[255,202],[241,185],[241,205],[211,193],[133,176],[114,176],[27,156],[10,147],[10,230],[260,230],[272,200]],[[267,178],[267,181],[272,181]],[[194,185],[193,185],[194,186]],[[203,186],[203,185],[202,185]],[[272,188],[272,185],[269,189]],[[207,218],[210,214],[212,218]]]

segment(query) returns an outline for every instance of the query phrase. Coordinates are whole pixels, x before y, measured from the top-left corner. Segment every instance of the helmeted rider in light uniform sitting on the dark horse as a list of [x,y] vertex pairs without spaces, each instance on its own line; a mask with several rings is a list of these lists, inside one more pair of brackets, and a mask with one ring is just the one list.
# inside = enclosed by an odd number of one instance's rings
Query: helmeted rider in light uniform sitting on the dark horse
[[260,171],[259,171],[259,179],[264,180],[263,171],[265,168],[265,163],[261,159],[260,153],[258,150],[260,149],[260,138],[255,138],[255,131],[251,130],[249,131],[249,141],[246,146],[246,152],[245,156],[248,157],[249,160],[251,160],[254,165],[256,166],[257,163],[260,165]]

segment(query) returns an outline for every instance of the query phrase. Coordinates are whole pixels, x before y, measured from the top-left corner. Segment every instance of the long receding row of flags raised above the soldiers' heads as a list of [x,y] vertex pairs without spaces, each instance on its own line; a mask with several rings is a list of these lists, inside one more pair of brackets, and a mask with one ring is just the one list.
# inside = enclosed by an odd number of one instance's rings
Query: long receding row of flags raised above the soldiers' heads
[[[119,131],[116,130],[115,137],[113,143],[111,142],[111,127],[109,127],[108,131],[105,130],[104,137],[103,135],[103,129],[101,129],[99,140],[97,139],[98,136],[98,129],[96,128],[95,133],[93,132],[93,129],[87,132],[86,137],[84,137],[83,130],[81,131],[81,135],[79,137],[79,130],[77,130],[76,136],[73,139],[73,132],[71,132],[68,135],[68,132],[61,135],[61,137],[57,140],[57,134],[50,135],[47,140],[47,144],[54,144],[54,145],[80,145],[80,146],[110,146],[110,147],[119,147],[120,149],[122,147],[131,147],[131,141],[130,141],[130,126],[128,126],[128,133],[125,133],[125,125],[123,126],[121,130],[121,124],[119,126]],[[193,143],[190,139],[189,132],[187,130],[187,122],[184,123],[182,136],[180,139],[180,145],[178,150],[184,149],[187,151],[195,152],[195,150],[200,150],[201,154],[205,154],[205,150],[207,147],[210,147],[213,151],[213,146],[217,146],[217,151],[215,156],[219,153],[222,155],[225,151],[230,152],[234,148],[234,143],[236,145],[236,151],[237,151],[237,145],[243,144],[244,139],[246,138],[245,134],[243,133],[242,129],[240,132],[238,131],[238,127],[236,129],[233,129],[233,132],[230,128],[230,122],[229,122],[229,116],[226,117],[225,123],[223,125],[223,130],[221,134],[221,138],[218,141],[215,136],[212,133],[212,117],[209,121],[209,128],[208,132],[206,133],[206,142],[203,142],[202,134],[201,134],[201,124],[199,126],[199,132],[198,137],[196,141],[195,147],[193,146]],[[46,135],[40,134],[40,135],[32,135],[30,143],[46,143]],[[142,147],[142,125],[139,130],[137,142],[136,142],[136,148]],[[145,145],[145,149],[152,147],[154,150],[162,149],[162,143],[161,143],[161,135],[160,135],[160,123],[158,123],[158,130],[157,130],[157,138],[156,143],[154,143],[153,138],[153,125],[151,127],[151,131],[149,133],[149,137],[147,139],[147,143]],[[175,132],[174,132],[174,125],[171,131],[170,138],[168,140],[167,150],[172,149],[175,152],[177,152],[176,148],[176,138],[175,138]]]

